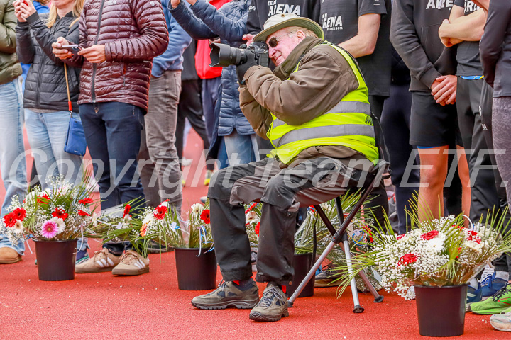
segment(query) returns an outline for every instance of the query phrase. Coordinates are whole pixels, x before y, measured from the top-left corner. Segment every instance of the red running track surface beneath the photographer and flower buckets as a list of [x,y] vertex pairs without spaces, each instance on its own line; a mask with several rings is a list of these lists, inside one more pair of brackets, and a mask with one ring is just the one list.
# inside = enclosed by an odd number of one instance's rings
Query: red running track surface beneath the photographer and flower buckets
[[[185,156],[199,159],[199,137],[192,132]],[[30,168],[29,168],[30,169]],[[196,170],[199,171],[196,174]],[[204,196],[199,162],[185,169],[183,210]],[[196,179],[197,186],[192,187]],[[0,193],[1,195],[1,193]],[[91,241],[92,255],[100,244]],[[33,242],[31,249],[34,250]],[[120,277],[77,274],[75,280],[38,280],[35,254],[0,265],[0,340],[7,339],[424,339],[419,336],[415,303],[385,295],[353,314],[351,293],[339,299],[335,288],[316,289],[295,302],[290,317],[258,323],[249,310],[196,310],[189,301],[203,292],[177,289],[174,253],[150,255],[150,273]],[[220,282],[220,273],[217,277]],[[260,285],[260,293],[263,286]],[[463,339],[510,339],[495,331],[489,316],[466,315]]]

